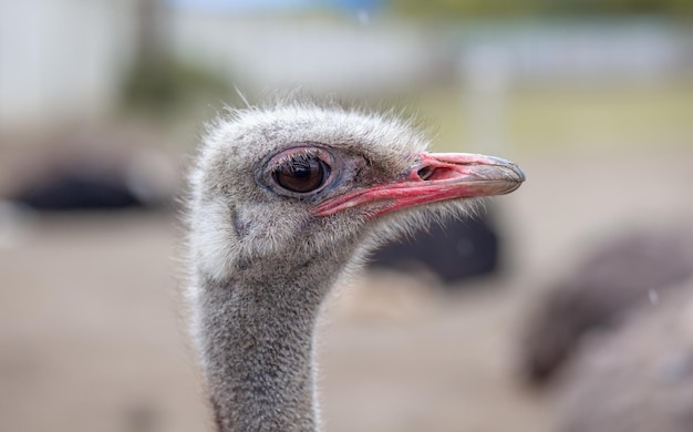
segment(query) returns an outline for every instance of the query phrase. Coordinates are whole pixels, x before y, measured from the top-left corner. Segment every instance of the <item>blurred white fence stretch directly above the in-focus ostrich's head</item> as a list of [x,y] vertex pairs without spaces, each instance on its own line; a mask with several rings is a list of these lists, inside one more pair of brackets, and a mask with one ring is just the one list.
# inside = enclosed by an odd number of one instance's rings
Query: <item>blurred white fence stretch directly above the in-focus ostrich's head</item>
[[371,21],[278,20],[234,14],[174,14],[176,53],[254,90],[302,88],[364,94],[411,86],[439,66],[421,30]]

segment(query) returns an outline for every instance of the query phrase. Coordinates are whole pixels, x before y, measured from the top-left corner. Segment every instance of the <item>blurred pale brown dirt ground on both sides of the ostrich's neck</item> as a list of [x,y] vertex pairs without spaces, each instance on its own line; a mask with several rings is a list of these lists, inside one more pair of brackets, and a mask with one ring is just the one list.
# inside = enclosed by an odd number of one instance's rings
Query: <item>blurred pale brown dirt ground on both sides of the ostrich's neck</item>
[[[542,284],[604,236],[693,216],[693,150],[517,162],[527,184],[494,200],[501,275],[444,290],[366,274],[334,296],[320,329],[327,430],[549,431],[550,395],[517,376]],[[0,432],[207,430],[176,218],[10,219],[0,209]]]

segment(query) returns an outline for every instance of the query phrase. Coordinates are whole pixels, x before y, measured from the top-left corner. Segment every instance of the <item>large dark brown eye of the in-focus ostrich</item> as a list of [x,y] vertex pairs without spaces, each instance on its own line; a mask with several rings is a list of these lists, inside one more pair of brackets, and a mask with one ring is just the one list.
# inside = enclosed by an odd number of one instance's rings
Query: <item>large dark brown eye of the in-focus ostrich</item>
[[322,186],[330,167],[318,156],[303,154],[279,165],[272,173],[275,182],[287,191],[306,194]]

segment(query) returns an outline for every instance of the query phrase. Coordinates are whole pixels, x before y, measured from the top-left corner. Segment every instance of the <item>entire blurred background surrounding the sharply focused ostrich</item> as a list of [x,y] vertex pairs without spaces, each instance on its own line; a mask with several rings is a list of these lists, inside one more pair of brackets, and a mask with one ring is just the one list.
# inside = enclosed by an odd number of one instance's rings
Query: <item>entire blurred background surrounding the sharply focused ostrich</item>
[[296,89],[528,176],[340,290],[328,430],[690,431],[692,13],[0,1],[0,431],[206,430],[176,197],[204,122]]

